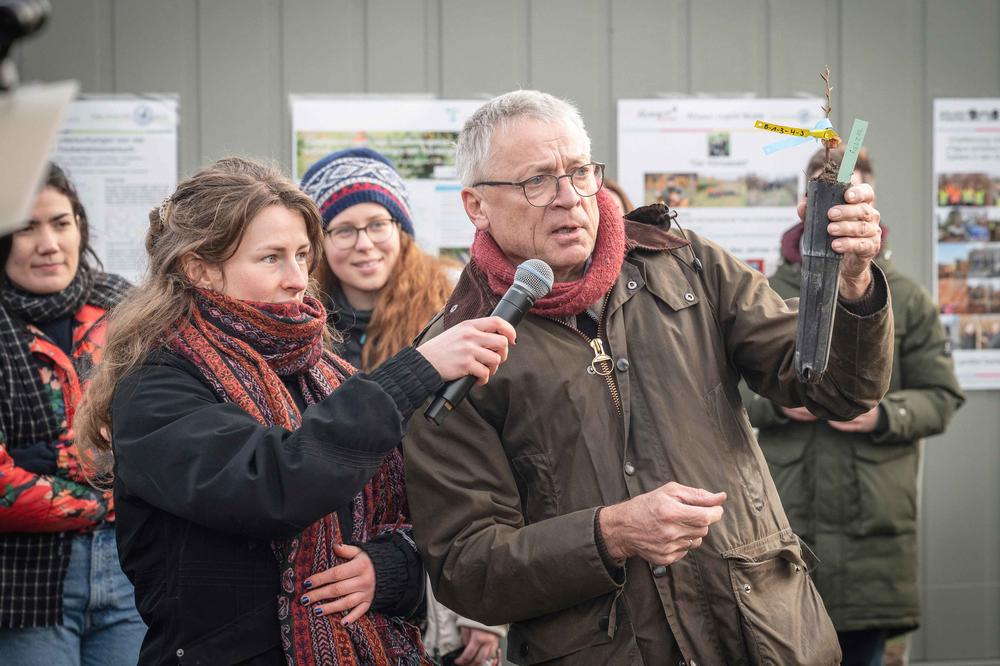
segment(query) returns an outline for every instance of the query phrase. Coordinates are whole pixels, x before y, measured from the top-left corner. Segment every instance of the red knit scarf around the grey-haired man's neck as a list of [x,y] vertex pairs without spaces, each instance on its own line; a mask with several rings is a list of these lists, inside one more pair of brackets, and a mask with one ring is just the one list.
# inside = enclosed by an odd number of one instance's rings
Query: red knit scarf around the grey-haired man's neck
[[[556,282],[544,298],[535,301],[531,311],[545,317],[569,317],[580,314],[611,290],[625,259],[625,222],[618,207],[604,190],[597,193],[600,224],[590,256],[590,266],[579,280]],[[490,290],[503,296],[514,282],[516,268],[497,242],[484,231],[477,231],[472,242],[472,261],[489,280]]]

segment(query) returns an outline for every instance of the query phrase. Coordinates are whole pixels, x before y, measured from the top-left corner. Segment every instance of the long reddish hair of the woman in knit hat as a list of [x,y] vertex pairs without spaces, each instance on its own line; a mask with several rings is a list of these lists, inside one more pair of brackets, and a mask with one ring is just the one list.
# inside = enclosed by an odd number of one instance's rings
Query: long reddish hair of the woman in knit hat
[[[449,269],[457,273],[460,268],[457,262],[421,250],[410,234],[399,234],[399,258],[375,301],[361,349],[362,370],[371,370],[413,342],[451,294]],[[327,294],[340,286],[327,261],[319,262],[316,277]]]

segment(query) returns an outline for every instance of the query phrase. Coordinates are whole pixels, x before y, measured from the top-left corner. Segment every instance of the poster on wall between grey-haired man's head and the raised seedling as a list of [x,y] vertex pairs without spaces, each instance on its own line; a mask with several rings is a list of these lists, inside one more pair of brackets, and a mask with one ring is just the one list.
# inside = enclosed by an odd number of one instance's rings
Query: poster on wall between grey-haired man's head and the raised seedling
[[782,140],[754,122],[813,127],[819,99],[626,99],[618,102],[617,180],[636,206],[663,201],[682,227],[759,271],[777,268],[816,141],[764,154]]

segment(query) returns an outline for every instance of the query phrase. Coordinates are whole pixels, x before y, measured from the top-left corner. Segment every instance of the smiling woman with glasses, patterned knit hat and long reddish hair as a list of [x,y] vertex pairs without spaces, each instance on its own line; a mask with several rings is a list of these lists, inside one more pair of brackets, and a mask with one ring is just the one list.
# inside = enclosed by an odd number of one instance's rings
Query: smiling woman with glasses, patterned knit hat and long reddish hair
[[[344,337],[341,354],[367,370],[410,344],[444,306],[451,267],[417,246],[403,181],[374,150],[327,155],[306,172],[302,189],[323,216],[326,261],[316,275]],[[497,654],[503,627],[459,617],[433,597],[427,614],[424,637],[436,660],[478,665]]]

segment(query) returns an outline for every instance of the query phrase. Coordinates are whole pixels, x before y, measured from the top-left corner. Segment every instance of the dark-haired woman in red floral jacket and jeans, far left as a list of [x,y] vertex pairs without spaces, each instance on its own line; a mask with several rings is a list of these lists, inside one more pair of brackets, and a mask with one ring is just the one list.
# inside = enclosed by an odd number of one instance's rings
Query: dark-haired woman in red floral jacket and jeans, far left
[[0,661],[134,664],[146,631],[118,565],[109,492],[73,437],[105,314],[128,284],[99,270],[72,183],[51,166],[30,221],[0,238]]

